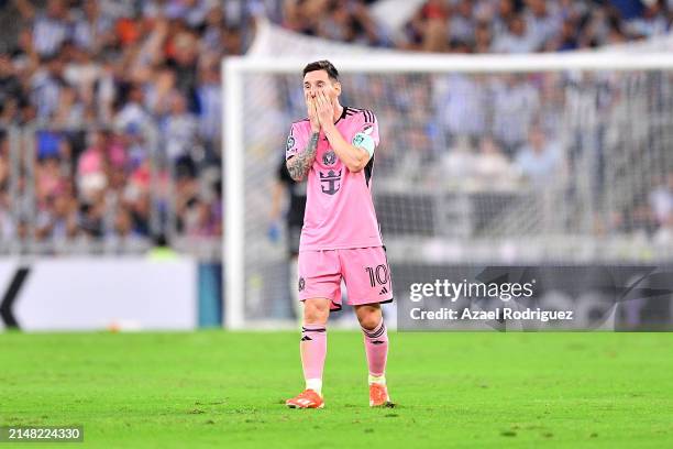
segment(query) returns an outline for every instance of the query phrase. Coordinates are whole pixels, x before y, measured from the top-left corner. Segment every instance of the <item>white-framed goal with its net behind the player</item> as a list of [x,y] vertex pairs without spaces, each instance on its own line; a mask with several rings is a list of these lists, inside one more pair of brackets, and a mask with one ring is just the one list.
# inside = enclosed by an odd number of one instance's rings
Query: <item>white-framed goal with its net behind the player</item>
[[[331,59],[342,103],[379,122],[373,191],[397,298],[456,265],[671,262],[670,55]],[[293,317],[269,213],[310,61],[223,65],[230,328]]]

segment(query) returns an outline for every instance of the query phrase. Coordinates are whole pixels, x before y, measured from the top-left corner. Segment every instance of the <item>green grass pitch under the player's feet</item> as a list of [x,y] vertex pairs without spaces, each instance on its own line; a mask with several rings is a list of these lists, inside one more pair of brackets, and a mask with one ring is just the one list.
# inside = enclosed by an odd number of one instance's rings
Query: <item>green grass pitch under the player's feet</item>
[[283,405],[298,340],[0,333],[0,425],[82,425],[65,446],[98,448],[673,447],[673,335],[391,333],[398,406],[371,409],[362,336],[331,331],[321,410]]

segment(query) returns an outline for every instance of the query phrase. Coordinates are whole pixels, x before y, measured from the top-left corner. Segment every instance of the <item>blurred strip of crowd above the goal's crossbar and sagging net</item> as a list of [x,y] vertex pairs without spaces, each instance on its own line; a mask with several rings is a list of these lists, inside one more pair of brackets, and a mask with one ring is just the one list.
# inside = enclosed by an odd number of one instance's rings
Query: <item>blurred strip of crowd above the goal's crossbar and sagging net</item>
[[[385,1],[385,0],[383,0]],[[427,0],[401,30],[366,0],[289,0],[284,26],[329,40],[450,53],[560,52],[671,30],[670,0]]]

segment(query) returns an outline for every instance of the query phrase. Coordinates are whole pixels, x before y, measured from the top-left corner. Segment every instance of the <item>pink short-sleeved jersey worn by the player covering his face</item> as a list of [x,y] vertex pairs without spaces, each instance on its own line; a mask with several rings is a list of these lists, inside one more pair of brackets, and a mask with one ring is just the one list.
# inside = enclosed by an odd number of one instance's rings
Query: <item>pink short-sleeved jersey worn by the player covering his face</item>
[[[378,123],[368,110],[344,107],[335,124],[346,142],[352,143],[362,133],[378,145]],[[285,157],[302,152],[310,134],[308,119],[293,123]],[[350,172],[320,132],[316,161],[308,174],[300,252],[383,245],[372,201],[373,167],[374,156],[361,172]]]

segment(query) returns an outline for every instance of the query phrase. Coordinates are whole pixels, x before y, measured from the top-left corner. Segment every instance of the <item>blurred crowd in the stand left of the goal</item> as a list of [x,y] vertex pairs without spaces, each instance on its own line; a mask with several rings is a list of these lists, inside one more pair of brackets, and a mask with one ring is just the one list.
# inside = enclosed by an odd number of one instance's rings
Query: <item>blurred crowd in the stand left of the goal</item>
[[34,200],[3,210],[3,237],[220,236],[220,62],[243,52],[243,3],[3,3],[20,25],[0,53],[2,166],[9,128],[36,127],[16,166]]

